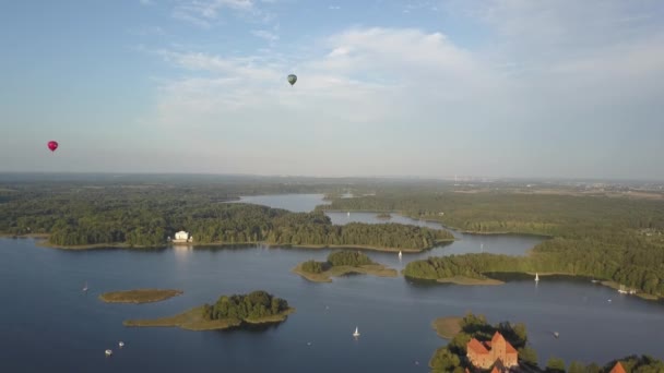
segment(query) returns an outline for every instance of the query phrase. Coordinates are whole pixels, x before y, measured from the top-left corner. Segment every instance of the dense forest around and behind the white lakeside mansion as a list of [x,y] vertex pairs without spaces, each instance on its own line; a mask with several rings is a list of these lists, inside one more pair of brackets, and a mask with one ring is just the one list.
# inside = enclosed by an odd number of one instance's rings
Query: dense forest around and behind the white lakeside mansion
[[[273,185],[246,188],[251,192],[278,190]],[[56,184],[49,189],[28,183],[4,191],[0,193],[7,198],[0,203],[0,233],[49,234],[49,242],[61,246],[161,246],[179,230],[189,231],[200,244],[428,249],[437,241],[453,239],[444,230],[398,224],[334,226],[320,210],[290,213],[235,203],[244,191],[238,185]]]

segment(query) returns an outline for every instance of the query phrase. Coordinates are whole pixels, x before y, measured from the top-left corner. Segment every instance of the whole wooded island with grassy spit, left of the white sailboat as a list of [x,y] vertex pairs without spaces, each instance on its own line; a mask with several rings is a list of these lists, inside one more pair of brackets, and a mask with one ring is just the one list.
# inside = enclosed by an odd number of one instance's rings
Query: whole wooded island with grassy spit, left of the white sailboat
[[215,330],[246,325],[269,325],[286,321],[295,312],[284,299],[263,290],[248,294],[222,296],[214,303],[192,308],[175,316],[128,320],[129,327],[180,327],[187,330]]

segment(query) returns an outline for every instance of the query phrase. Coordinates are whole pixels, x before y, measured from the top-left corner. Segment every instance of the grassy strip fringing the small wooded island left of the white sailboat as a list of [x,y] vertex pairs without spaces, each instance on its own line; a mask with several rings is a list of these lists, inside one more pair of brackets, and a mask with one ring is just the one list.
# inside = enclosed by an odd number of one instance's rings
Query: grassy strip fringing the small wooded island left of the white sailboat
[[247,324],[273,324],[281,323],[287,318],[287,315],[295,312],[295,309],[290,308],[288,311],[282,312],[278,315],[261,317],[256,320],[239,318],[223,318],[223,320],[205,320],[203,318],[203,306],[197,306],[185,311],[175,316],[159,317],[153,320],[128,320],[122,323],[129,327],[180,327],[186,330],[218,330],[227,329],[232,327],[241,326],[244,323]]

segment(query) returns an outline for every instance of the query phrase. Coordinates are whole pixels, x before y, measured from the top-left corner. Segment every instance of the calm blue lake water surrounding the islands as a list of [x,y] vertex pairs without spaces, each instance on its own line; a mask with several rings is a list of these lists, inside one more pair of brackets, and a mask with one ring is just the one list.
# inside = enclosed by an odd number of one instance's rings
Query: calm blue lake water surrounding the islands
[[[320,195],[260,196],[247,202],[308,210]],[[336,224],[377,221],[375,214],[329,214]],[[392,221],[438,227],[393,215]],[[395,268],[429,255],[522,254],[534,237],[455,233],[426,253],[368,252]],[[582,279],[543,277],[503,286],[412,284],[403,277],[347,276],[309,282],[289,272],[329,250],[164,249],[62,251],[31,239],[0,239],[0,372],[427,372],[446,344],[430,327],[472,310],[489,321],[524,322],[542,362],[605,363],[630,353],[664,359],[664,306]],[[87,281],[90,291],[82,293]],[[158,287],[185,290],[153,304],[106,304],[99,293]],[[171,315],[220,294],[264,289],[297,312],[263,330],[188,332],[126,328],[122,321]],[[612,299],[612,302],[607,300]],[[361,336],[352,333],[359,327]],[[552,332],[560,338],[552,337]],[[126,346],[118,349],[117,342]],[[307,342],[311,342],[308,346]],[[114,349],[110,358],[104,350]],[[415,362],[418,361],[419,364]]]

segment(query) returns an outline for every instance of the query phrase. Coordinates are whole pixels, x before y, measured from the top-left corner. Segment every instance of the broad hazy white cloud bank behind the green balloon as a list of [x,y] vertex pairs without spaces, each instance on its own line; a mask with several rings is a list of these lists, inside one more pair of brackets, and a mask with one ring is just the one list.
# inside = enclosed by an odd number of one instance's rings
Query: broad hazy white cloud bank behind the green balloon
[[144,122],[263,159],[252,172],[313,172],[334,158],[328,175],[592,176],[624,157],[638,165],[625,173],[644,173],[662,155],[664,28],[645,14],[656,3],[629,4],[441,4],[491,32],[474,49],[440,32],[352,27],[285,56],[159,50],[181,73],[159,83]]

